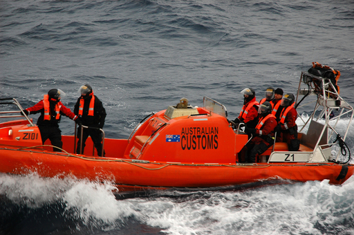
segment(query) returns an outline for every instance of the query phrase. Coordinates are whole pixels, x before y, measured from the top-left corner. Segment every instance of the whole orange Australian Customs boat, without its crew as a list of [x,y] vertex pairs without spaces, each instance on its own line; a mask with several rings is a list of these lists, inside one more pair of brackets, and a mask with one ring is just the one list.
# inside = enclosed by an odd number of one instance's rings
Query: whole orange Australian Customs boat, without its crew
[[[38,127],[19,102],[1,99],[1,110],[9,109],[0,112],[1,118],[10,120],[0,124],[0,171],[110,181],[120,191],[223,187],[274,179],[329,180],[340,185],[353,175],[354,165],[348,163],[351,156],[344,142],[350,125],[345,133],[336,127],[342,118],[351,122],[353,108],[337,90],[333,80],[302,72],[297,109],[313,112],[299,126],[299,151],[275,142],[256,163],[239,163],[248,135],[233,129],[225,106],[209,97],[203,98],[203,107],[169,106],[151,113],[126,140],[104,138],[105,158],[93,151],[91,140],[84,154],[76,154],[73,135],[62,136],[61,153],[52,151],[47,142],[41,143]],[[338,113],[334,118],[333,111]]]

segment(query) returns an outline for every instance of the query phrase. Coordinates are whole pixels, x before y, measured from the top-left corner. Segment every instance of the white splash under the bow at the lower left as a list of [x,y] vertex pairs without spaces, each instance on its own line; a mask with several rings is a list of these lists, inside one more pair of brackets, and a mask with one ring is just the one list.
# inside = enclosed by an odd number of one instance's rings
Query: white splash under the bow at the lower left
[[12,203],[30,208],[61,203],[68,214],[84,224],[91,221],[114,224],[135,214],[129,202],[115,199],[113,192],[117,191],[109,182],[40,178],[36,173],[27,176],[0,173],[0,195]]

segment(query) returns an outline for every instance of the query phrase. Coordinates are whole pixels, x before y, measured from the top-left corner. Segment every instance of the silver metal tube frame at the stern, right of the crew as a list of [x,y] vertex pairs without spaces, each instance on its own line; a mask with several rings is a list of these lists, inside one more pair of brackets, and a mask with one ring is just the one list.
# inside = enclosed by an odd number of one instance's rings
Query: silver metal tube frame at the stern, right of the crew
[[[303,88],[302,86],[306,86]],[[330,79],[324,77],[318,77],[307,72],[302,72],[299,88],[297,90],[297,99],[303,95],[301,101],[296,101],[296,108],[310,110],[313,108],[312,113],[307,120],[300,114],[299,118],[303,122],[299,129],[301,133],[301,143],[306,144],[313,149],[313,152],[308,156],[303,156],[304,161],[307,162],[338,162],[340,153],[346,153],[348,156],[343,156],[348,162],[351,158],[350,150],[346,147],[345,140],[348,130],[350,128],[351,121],[353,120],[353,107],[349,105],[337,92],[337,88],[330,81]],[[315,95],[315,98],[310,99],[306,104],[300,104],[302,101],[311,95]],[[336,115],[331,115],[336,111]],[[340,135],[337,130],[339,120],[346,118],[349,120],[349,124],[346,127],[345,132]],[[306,134],[302,133],[306,128],[308,131]],[[339,147],[341,151],[337,151],[335,156],[332,156],[332,149]],[[338,149],[338,148],[337,148]],[[306,153],[295,153],[299,155],[306,155]],[[342,154],[343,155],[343,154]]]

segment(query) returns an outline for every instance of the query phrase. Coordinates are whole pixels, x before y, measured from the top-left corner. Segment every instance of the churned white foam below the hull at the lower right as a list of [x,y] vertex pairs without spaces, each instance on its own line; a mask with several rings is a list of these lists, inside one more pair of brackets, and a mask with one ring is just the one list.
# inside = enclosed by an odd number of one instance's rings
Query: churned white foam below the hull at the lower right
[[[273,185],[250,191],[201,193],[201,198],[129,199],[140,220],[167,234],[323,234],[353,218],[354,180]],[[347,231],[348,233],[350,231]]]

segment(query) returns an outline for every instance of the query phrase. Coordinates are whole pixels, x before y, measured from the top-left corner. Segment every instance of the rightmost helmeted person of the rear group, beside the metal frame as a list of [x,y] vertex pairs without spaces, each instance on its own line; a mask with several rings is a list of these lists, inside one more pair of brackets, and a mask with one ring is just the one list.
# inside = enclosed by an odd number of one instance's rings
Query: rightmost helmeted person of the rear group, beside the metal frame
[[281,106],[284,106],[281,111],[279,126],[281,130],[282,142],[288,143],[289,151],[298,151],[300,142],[297,139],[297,111],[294,108],[295,96],[288,93],[283,96]]

